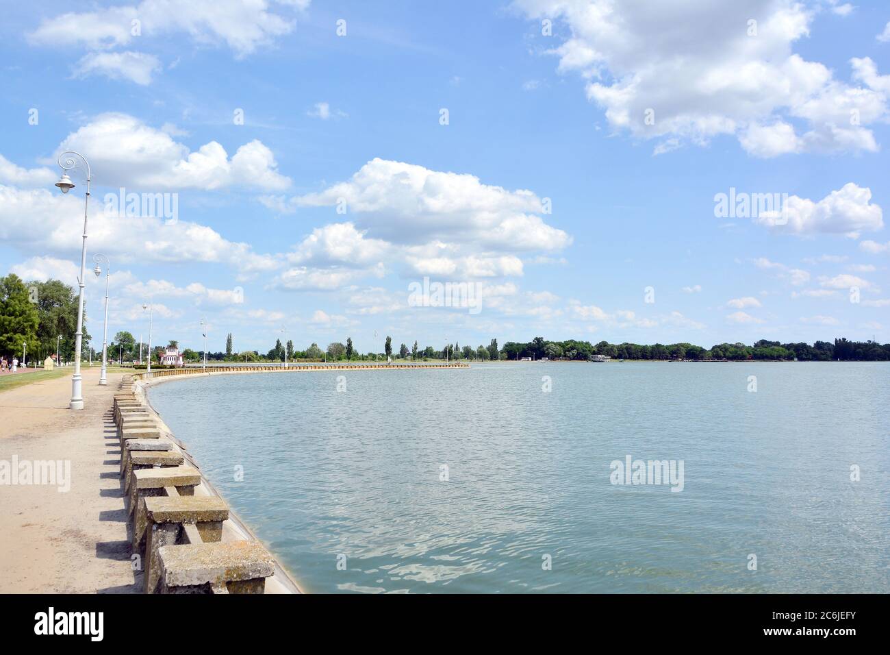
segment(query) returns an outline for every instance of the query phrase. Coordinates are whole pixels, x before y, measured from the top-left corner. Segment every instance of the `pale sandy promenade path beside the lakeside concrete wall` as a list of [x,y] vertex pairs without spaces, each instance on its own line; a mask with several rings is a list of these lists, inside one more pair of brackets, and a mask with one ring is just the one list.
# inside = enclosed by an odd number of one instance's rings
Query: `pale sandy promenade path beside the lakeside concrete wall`
[[100,387],[84,370],[85,409],[68,409],[71,378],[0,393],[0,460],[70,461],[70,490],[0,485],[0,593],[140,593],[110,419],[122,373]]

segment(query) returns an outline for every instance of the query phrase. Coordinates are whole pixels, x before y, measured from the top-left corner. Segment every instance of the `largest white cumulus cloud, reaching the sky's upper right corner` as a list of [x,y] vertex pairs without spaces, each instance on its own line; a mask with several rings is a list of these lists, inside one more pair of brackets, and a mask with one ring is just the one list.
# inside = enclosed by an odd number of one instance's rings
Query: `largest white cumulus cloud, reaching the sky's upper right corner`
[[[514,0],[535,20],[561,20],[568,37],[548,52],[576,72],[611,127],[681,142],[734,135],[758,157],[801,151],[875,151],[868,126],[887,117],[886,94],[834,77],[794,47],[815,12],[797,0],[743,3]],[[845,5],[836,12],[848,11]],[[859,111],[856,124],[851,110]],[[798,134],[792,120],[804,123]],[[667,140],[667,141],[666,141]]]

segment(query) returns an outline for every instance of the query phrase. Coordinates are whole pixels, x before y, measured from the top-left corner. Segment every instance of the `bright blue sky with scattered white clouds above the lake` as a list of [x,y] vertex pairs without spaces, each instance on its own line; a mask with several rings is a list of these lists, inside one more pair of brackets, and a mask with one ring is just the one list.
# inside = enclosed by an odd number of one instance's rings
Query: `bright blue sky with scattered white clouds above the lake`
[[[111,334],[151,299],[155,342],[206,318],[212,350],[886,342],[890,6],[737,5],[7,4],[0,268],[75,283],[73,148]],[[715,216],[731,188],[783,200]],[[481,310],[412,307],[424,277]]]

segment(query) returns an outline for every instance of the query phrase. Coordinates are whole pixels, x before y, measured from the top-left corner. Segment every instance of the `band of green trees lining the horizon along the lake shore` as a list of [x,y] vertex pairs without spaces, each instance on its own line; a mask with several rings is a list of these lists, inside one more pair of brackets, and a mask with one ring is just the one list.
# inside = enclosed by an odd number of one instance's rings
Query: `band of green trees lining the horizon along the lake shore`
[[[21,357],[23,345],[28,344],[28,362],[36,359],[42,365],[47,356],[55,357],[56,348],[62,364],[74,358],[74,332],[77,325],[77,294],[73,287],[59,280],[46,282],[23,282],[17,275],[8,274],[0,278],[0,355],[12,360]],[[61,337],[61,339],[59,339]],[[101,360],[101,343],[93,344],[84,326],[84,353],[82,360],[93,364]],[[425,346],[417,341],[413,344],[401,343],[396,348],[392,338],[387,336],[380,352],[360,353],[352,345],[352,339],[345,343],[329,343],[320,348],[312,343],[308,348],[298,350],[292,340],[282,343],[276,340],[275,346],[266,353],[256,350],[239,352],[234,346],[231,332],[226,337],[224,352],[208,352],[207,363],[231,364],[270,364],[285,360],[288,362],[386,362],[392,361],[520,361],[548,359],[550,361],[597,361],[597,360],[641,360],[641,361],[890,361],[890,344],[873,341],[849,341],[836,338],[833,341],[815,341],[812,345],[804,342],[781,343],[780,341],[759,340],[748,345],[744,343],[718,343],[710,348],[692,343],[610,343],[600,341],[565,340],[551,341],[535,337],[528,342],[507,341],[498,347],[498,340],[492,339],[488,346],[475,348],[459,343],[445,344],[441,348]],[[179,348],[178,341],[169,341],[167,346]],[[166,346],[153,345],[151,348],[152,366],[159,362],[159,356]],[[149,347],[134,339],[132,332],[120,331],[109,342],[109,365],[138,364],[142,353],[143,363],[147,363]],[[182,349],[183,360],[187,364],[203,361],[204,353],[193,348]]]

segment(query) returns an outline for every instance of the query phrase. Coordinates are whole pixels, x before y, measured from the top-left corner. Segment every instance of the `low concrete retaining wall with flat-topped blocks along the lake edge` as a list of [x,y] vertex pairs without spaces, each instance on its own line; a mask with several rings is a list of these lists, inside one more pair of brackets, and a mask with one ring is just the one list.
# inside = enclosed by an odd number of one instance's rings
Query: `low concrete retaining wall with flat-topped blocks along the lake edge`
[[117,425],[133,552],[142,562],[145,592],[299,593],[204,479],[182,442],[151,409],[135,377],[121,381],[110,415]]

